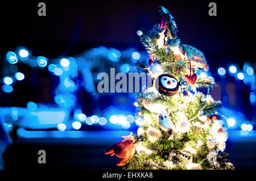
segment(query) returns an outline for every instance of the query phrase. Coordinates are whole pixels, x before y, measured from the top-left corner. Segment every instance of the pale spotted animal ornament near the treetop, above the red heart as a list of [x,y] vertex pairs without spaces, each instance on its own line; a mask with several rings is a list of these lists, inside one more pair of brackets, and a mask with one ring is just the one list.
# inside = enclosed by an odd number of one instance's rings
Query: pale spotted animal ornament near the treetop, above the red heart
[[204,53],[199,49],[196,49],[190,45],[181,44],[180,39],[177,37],[174,39],[168,37],[166,44],[176,56],[192,61],[193,66],[196,66],[197,68],[204,69],[205,71],[209,70],[208,62],[204,56]]

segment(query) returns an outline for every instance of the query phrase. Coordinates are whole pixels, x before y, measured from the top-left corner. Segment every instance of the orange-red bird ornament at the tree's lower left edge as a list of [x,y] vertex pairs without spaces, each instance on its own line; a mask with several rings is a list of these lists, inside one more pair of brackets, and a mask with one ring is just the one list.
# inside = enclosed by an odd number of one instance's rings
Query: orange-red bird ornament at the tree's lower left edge
[[123,166],[128,159],[133,158],[135,153],[134,143],[135,140],[123,140],[117,142],[116,144],[109,146],[109,148],[105,150],[105,154],[119,157],[120,159],[117,162],[117,166]]

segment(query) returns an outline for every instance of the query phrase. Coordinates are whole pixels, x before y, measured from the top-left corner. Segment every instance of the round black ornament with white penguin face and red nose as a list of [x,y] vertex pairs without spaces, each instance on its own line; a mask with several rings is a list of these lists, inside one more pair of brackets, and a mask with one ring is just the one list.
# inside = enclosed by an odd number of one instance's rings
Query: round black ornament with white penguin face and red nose
[[179,82],[170,74],[162,74],[156,78],[155,88],[160,94],[172,96],[177,94]]

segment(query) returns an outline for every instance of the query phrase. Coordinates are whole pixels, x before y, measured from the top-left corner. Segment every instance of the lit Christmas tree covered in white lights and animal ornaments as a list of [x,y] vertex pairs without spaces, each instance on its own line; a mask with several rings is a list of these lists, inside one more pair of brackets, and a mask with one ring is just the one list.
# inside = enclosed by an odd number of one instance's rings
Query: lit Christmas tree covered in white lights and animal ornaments
[[148,52],[147,64],[137,62],[138,71],[152,78],[137,96],[140,128],[105,154],[119,157],[121,169],[234,169],[225,151],[228,125],[221,102],[210,95],[217,85],[197,75],[208,71],[207,59],[181,44],[168,10],[160,6],[159,12],[161,23],[137,32]]

